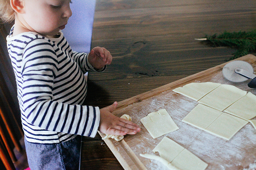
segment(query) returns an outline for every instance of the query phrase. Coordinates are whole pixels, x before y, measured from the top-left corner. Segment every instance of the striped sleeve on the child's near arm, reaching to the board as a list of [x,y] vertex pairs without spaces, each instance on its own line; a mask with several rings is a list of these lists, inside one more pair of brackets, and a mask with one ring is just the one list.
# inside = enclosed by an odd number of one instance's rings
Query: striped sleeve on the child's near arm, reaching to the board
[[21,101],[28,123],[49,131],[95,137],[100,122],[98,107],[53,100],[58,60],[47,40],[32,41],[26,46],[21,68]]

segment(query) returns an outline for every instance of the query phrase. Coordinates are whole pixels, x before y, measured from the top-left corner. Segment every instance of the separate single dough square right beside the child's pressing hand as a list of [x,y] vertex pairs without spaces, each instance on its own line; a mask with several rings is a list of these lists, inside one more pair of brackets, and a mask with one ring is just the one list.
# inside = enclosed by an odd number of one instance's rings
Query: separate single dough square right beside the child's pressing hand
[[149,113],[141,119],[141,122],[153,139],[178,130],[178,126],[165,109]]

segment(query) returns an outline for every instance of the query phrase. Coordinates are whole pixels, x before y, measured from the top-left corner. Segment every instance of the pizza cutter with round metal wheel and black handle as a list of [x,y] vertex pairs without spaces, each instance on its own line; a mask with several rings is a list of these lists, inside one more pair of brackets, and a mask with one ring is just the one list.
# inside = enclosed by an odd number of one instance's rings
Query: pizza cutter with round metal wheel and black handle
[[223,76],[232,82],[244,82],[252,79],[248,86],[249,88],[256,88],[256,75],[252,65],[248,62],[235,60],[226,64],[222,69]]

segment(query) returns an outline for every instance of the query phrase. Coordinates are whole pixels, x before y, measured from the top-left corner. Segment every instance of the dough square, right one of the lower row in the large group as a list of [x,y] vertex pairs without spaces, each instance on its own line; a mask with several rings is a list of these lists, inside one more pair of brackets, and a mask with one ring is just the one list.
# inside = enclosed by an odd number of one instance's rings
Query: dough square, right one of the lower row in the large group
[[205,129],[205,131],[229,140],[247,123],[248,121],[227,113],[223,113],[215,121],[213,121],[210,126]]

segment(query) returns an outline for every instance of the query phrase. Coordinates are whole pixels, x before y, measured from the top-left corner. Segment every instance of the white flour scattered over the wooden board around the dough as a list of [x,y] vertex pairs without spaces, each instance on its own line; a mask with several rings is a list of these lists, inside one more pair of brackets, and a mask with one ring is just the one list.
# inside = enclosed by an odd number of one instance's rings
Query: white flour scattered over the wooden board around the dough
[[[223,78],[222,73],[217,73],[208,81],[230,84],[256,95],[256,90],[247,86],[248,82],[230,82]],[[200,81],[196,80],[195,82]],[[152,150],[163,139],[163,136],[153,139],[140,119],[148,113],[166,109],[179,129],[164,136],[169,137],[208,163],[206,170],[256,170],[256,131],[253,126],[251,124],[245,125],[232,139],[226,141],[181,122],[196,105],[196,101],[172,90],[164,91],[159,96],[129,105],[117,116],[130,115],[133,122],[141,127],[141,132],[138,135],[126,135],[124,140],[148,170],[168,170],[158,161],[139,156],[139,154],[146,153],[158,155]]]

